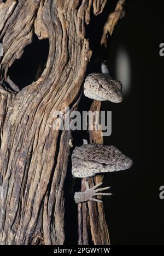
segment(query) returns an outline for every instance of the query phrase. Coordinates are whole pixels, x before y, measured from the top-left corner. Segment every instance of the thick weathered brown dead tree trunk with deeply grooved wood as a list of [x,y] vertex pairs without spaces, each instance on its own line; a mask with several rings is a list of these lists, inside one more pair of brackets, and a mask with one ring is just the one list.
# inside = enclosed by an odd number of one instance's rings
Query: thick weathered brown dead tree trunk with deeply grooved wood
[[[65,115],[65,107],[70,112],[77,108],[91,58],[85,24],[90,23],[91,7],[98,15],[106,2],[0,0],[1,244],[65,241],[63,185],[71,131],[54,130],[53,113]],[[8,69],[34,32],[49,39],[46,68],[36,82],[16,93],[6,86]]]

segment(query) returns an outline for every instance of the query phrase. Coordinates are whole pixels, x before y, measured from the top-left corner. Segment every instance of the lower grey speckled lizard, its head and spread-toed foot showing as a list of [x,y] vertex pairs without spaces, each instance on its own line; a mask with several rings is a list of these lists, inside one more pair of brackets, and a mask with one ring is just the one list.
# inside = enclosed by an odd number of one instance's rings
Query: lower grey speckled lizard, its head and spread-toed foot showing
[[[126,157],[114,146],[95,143],[83,144],[80,147],[75,147],[72,153],[73,177],[92,177],[102,172],[126,170],[131,168],[132,164],[132,159]],[[75,203],[89,200],[102,202],[93,196],[110,196],[111,193],[102,193],[101,191],[108,190],[110,187],[97,188],[101,185],[102,182],[89,188],[86,182],[86,191],[74,193]]]

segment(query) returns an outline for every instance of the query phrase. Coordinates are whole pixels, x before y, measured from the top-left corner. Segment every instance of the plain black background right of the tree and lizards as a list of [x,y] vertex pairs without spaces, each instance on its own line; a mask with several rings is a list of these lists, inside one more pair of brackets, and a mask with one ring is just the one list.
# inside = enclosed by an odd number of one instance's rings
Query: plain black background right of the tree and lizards
[[[156,165],[156,102],[163,86],[163,62],[159,44],[164,41],[162,1],[128,1],[125,18],[110,39],[109,70],[115,75],[117,49],[122,46],[131,59],[131,92],[120,105],[104,103],[112,110],[114,144],[133,159],[130,170],[105,177],[114,196],[106,198],[106,218],[112,244],[163,244],[163,206],[159,187],[162,169]],[[160,159],[159,159],[160,160]]]

